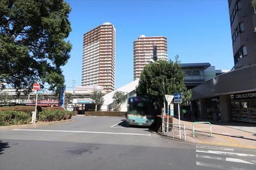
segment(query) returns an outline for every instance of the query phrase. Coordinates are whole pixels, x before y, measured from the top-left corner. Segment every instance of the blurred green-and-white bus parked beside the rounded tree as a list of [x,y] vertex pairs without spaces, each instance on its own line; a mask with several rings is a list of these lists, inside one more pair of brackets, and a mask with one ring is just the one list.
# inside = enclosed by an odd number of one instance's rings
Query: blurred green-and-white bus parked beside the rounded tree
[[129,98],[125,114],[127,126],[151,126],[156,118],[156,104],[144,96]]

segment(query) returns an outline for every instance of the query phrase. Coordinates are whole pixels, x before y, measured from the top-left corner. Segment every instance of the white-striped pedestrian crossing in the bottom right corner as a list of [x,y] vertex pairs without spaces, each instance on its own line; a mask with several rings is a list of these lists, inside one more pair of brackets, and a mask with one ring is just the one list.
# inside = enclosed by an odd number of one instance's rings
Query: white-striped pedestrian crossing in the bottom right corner
[[196,165],[199,169],[256,169],[255,154],[256,151],[197,145]]

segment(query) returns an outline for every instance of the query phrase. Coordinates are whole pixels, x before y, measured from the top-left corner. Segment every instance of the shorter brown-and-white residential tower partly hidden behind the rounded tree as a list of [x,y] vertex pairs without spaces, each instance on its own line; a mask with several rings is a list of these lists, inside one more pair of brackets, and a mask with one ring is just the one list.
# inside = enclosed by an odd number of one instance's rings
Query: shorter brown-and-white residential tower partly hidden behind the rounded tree
[[168,60],[167,38],[162,36],[139,36],[139,38],[133,42],[134,80],[140,78],[141,71],[146,65],[146,62],[153,60],[153,57],[157,57],[157,60]]

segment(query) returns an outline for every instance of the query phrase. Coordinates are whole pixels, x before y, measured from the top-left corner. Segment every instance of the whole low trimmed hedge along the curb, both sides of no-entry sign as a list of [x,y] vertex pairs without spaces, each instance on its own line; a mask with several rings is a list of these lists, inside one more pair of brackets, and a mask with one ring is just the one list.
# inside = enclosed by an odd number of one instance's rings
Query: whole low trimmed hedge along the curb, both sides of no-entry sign
[[[30,124],[34,106],[0,107],[0,126]],[[61,107],[38,107],[37,120],[51,122],[72,117],[73,112]]]

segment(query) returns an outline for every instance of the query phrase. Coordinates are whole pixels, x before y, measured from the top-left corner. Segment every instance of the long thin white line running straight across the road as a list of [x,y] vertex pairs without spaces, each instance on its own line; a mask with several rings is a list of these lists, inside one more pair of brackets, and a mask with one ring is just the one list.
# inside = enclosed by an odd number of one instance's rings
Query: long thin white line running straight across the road
[[13,131],[73,132],[73,133],[100,133],[100,134],[151,136],[151,134],[139,134],[139,133],[114,133],[114,132],[90,132],[90,131],[63,131],[63,130],[40,130],[40,129],[13,129]]

